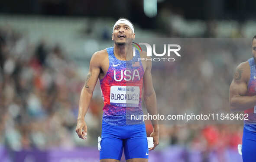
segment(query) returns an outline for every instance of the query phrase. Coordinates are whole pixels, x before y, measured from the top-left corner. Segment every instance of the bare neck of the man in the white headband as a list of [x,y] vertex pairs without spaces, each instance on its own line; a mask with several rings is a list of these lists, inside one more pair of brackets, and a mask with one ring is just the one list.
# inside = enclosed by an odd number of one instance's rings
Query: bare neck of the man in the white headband
[[119,60],[131,60],[133,58],[132,44],[114,44],[114,55]]

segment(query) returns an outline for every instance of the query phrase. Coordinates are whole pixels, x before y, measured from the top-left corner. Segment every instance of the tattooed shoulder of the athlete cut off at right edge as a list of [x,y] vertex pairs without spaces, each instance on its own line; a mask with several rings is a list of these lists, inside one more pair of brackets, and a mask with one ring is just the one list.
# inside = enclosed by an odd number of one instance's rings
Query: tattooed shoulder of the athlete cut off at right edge
[[250,65],[248,61],[240,63],[234,74],[234,81],[241,82],[245,81],[246,83],[250,80]]

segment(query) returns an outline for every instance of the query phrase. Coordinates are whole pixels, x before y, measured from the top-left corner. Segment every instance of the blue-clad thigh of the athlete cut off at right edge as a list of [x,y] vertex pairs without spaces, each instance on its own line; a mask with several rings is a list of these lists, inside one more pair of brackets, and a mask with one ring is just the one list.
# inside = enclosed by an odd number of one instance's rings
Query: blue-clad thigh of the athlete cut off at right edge
[[256,162],[256,132],[251,132],[244,128],[242,157],[243,162]]

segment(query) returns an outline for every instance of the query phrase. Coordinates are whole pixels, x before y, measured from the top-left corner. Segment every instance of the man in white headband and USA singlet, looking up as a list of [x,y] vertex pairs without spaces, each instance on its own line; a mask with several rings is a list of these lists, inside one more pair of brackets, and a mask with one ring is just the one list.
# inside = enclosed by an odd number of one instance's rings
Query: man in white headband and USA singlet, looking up
[[[86,139],[84,116],[89,108],[97,79],[104,96],[100,162],[119,162],[124,150],[126,162],[148,162],[149,150],[159,144],[159,125],[152,121],[154,146],[148,149],[143,121],[131,119],[142,115],[143,95],[149,114],[156,114],[156,93],[152,85],[151,62],[142,61],[146,52],[133,55],[134,27],[120,18],[113,26],[114,46],[93,54],[86,83],[81,90],[76,132]],[[150,59],[150,58],[148,58]],[[146,60],[146,59],[144,59]],[[83,131],[84,130],[84,131]]]

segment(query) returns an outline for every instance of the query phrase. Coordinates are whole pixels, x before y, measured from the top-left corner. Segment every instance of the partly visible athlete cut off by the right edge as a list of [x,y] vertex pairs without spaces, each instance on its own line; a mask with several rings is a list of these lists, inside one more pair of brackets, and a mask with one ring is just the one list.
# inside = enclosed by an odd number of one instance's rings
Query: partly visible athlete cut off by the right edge
[[256,162],[256,35],[252,51],[253,57],[237,66],[229,97],[232,110],[249,114],[243,128],[243,162]]

